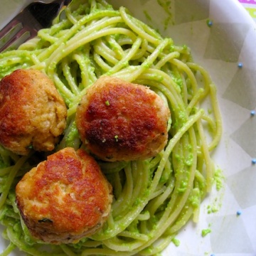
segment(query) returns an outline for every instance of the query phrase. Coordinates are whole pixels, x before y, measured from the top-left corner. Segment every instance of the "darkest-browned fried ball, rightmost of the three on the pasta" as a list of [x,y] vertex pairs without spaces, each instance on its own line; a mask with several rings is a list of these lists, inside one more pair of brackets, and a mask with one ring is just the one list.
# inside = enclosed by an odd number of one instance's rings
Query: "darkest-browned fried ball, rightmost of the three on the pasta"
[[166,145],[169,107],[144,85],[102,77],[78,105],[76,124],[82,142],[105,161],[155,156]]

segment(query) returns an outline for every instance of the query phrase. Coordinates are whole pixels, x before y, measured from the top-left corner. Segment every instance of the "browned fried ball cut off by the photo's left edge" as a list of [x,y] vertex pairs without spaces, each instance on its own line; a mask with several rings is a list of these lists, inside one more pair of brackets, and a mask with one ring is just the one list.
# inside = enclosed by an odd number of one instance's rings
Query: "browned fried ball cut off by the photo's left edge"
[[16,154],[51,151],[66,125],[67,108],[38,70],[16,70],[0,81],[0,144]]

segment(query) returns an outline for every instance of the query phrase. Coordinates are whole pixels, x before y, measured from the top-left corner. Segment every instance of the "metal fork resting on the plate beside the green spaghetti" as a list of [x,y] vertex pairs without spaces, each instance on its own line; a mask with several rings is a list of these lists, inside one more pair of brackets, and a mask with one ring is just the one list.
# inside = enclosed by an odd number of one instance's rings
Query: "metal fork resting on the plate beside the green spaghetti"
[[28,4],[0,31],[0,52],[18,48],[35,37],[41,28],[48,28],[63,6],[72,0],[34,1]]

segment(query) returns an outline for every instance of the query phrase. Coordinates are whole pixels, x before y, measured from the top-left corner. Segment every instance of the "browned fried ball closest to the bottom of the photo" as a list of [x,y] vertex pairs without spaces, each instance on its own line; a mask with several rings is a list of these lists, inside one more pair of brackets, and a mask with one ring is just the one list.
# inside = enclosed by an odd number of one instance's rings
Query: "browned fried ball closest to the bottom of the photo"
[[112,186],[92,156],[68,147],[23,176],[16,203],[33,237],[55,244],[77,242],[105,222]]

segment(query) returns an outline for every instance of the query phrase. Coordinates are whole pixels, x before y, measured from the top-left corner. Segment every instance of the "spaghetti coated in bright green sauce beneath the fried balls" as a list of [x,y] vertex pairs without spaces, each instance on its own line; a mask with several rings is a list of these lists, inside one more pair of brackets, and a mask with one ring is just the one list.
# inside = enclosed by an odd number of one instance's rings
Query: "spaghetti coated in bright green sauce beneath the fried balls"
[[[146,85],[161,96],[171,110],[168,144],[151,159],[99,162],[113,186],[110,217],[90,238],[47,249],[31,238],[15,203],[16,183],[38,159],[1,146],[0,220],[9,240],[1,255],[16,247],[28,255],[157,255],[188,220],[198,220],[201,201],[211,191],[210,151],[222,131],[215,85],[193,63],[189,48],[161,37],[126,8],[115,10],[104,0],[78,0],[73,6],[18,50],[0,53],[0,78],[34,68],[53,80],[68,107],[68,126],[55,151],[81,146],[76,107],[102,75]],[[211,111],[201,107],[204,102]]]

